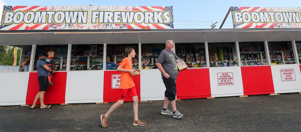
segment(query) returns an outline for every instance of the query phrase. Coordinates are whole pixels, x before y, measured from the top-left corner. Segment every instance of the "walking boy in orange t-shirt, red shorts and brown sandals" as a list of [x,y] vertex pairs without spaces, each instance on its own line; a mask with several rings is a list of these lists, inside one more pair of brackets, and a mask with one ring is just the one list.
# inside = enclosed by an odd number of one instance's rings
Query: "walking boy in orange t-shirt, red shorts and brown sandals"
[[143,121],[140,121],[138,119],[138,96],[136,93],[136,88],[134,81],[132,79],[132,76],[134,76],[133,71],[133,63],[132,58],[135,57],[136,53],[133,48],[125,48],[125,54],[128,55],[128,57],[125,57],[122,62],[119,63],[119,66],[117,68],[117,71],[121,71],[120,75],[120,86],[119,86],[119,99],[118,101],[111,106],[111,108],[108,110],[106,114],[102,114],[101,116],[101,125],[103,127],[108,127],[107,121],[109,115],[117,109],[120,105],[123,104],[124,96],[126,94],[129,94],[130,97],[133,98],[133,110],[134,110],[134,123],[133,125],[137,126],[145,126],[146,123]]

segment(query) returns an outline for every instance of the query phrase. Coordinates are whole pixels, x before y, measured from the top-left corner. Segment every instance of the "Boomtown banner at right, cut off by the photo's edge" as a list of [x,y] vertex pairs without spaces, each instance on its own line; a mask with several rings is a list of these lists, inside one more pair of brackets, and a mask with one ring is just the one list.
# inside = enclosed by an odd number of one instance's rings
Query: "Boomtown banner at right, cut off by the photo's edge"
[[231,7],[234,28],[301,28],[300,7]]

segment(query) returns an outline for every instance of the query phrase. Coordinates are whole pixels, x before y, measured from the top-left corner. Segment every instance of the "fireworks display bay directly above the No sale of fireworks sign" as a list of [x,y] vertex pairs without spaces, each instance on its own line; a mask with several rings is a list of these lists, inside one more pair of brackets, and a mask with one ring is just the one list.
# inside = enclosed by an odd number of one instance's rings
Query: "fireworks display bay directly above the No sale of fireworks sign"
[[235,42],[208,42],[209,66],[238,66]]

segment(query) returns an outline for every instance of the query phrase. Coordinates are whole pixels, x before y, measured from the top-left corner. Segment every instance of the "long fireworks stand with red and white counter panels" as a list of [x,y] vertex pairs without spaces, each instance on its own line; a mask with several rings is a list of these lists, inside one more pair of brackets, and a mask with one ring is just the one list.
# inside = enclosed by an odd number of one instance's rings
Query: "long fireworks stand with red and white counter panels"
[[[90,8],[93,6],[87,6],[92,17],[87,18],[87,23],[94,22],[95,13],[101,14]],[[149,9],[171,12],[169,7]],[[85,16],[84,11],[78,13]],[[99,18],[95,20],[101,22]],[[33,103],[39,89],[36,61],[39,54],[48,51],[55,52],[56,73],[53,86],[45,93],[45,104],[115,102],[120,72],[106,69],[106,57],[112,56],[118,65],[127,57],[127,47],[136,52],[132,64],[133,69],[140,71],[133,76],[139,101],[164,100],[166,89],[156,61],[166,40],[173,40],[173,52],[188,66],[178,74],[177,99],[301,92],[300,28],[172,29],[172,23],[88,23],[82,27],[56,25],[60,29],[46,30],[44,27],[54,25],[30,27],[34,25],[19,25],[20,30],[12,27],[18,24],[8,23],[0,29],[1,45],[22,48],[20,64],[31,56],[29,72],[20,67],[18,72],[0,73],[0,105]],[[101,29],[103,25],[108,29]],[[125,101],[132,99],[126,96]]]

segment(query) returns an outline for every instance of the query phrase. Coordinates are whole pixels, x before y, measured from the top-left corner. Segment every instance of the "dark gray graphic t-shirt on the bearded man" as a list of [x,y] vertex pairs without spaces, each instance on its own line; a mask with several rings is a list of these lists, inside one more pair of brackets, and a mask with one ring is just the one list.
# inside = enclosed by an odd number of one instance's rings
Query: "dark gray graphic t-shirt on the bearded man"
[[[177,59],[179,59],[179,57],[174,52],[164,49],[161,51],[156,63],[160,63],[164,71],[170,77],[177,79],[179,73],[178,66],[176,63]],[[162,73],[161,76],[162,78],[164,77]]]

